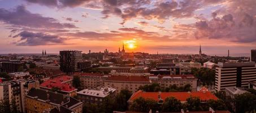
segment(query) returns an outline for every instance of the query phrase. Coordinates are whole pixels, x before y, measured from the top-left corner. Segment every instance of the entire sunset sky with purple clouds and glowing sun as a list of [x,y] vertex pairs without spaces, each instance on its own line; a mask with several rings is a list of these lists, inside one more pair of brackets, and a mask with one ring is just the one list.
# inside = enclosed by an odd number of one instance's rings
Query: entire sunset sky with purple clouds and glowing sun
[[117,52],[244,55],[255,0],[0,0],[0,54]]

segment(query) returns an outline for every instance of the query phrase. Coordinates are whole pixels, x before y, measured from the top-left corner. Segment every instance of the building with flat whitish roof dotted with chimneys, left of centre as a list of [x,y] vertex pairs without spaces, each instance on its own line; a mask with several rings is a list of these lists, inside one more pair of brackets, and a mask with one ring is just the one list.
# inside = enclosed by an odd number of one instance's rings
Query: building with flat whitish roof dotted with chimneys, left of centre
[[114,99],[116,95],[116,89],[111,87],[84,89],[77,92],[78,99],[87,104],[102,105],[106,98]]

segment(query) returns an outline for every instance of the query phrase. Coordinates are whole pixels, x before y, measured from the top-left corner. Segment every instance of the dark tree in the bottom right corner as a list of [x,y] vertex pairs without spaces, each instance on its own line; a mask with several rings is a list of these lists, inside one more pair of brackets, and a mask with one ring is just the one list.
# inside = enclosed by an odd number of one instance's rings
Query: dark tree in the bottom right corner
[[236,112],[254,112],[256,110],[256,95],[244,93],[235,95]]

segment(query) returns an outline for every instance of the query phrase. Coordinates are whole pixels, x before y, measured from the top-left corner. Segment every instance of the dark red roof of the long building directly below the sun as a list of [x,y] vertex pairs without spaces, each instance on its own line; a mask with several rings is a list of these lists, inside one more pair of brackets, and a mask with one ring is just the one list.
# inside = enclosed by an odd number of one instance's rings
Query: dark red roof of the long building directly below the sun
[[111,81],[148,81],[149,77],[146,76],[109,76],[107,80]]

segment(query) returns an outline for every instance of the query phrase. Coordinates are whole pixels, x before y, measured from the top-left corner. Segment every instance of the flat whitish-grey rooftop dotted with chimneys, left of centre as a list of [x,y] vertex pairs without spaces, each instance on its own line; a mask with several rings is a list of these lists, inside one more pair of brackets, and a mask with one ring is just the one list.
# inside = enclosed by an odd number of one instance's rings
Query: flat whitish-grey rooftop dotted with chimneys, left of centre
[[115,92],[116,89],[111,87],[105,87],[105,88],[99,88],[99,89],[84,89],[80,92],[77,92],[77,94],[83,94],[83,95],[90,95],[94,97],[106,97],[110,94],[110,92]]

